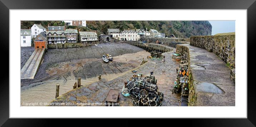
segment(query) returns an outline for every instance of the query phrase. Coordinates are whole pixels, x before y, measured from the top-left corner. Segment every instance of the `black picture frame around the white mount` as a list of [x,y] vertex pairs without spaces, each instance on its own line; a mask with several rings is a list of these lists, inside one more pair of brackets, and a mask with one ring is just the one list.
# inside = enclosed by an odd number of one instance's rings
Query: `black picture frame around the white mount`
[[[125,4],[125,5],[124,5]],[[92,6],[93,5],[93,6]],[[1,36],[1,54],[9,52],[9,10],[10,9],[247,9],[247,43],[237,42],[247,45],[247,67],[254,68],[253,55],[255,54],[254,47],[256,43],[256,2],[255,0],[147,0],[147,1],[129,1],[122,3],[122,1],[93,1],[80,0],[70,4],[69,0],[0,0],[0,36]],[[248,60],[251,60],[248,61]],[[63,119],[13,119],[9,118],[9,56],[2,61],[2,65],[6,70],[2,70],[0,83],[0,126],[49,126],[48,122],[58,121],[58,125],[66,125],[66,122],[60,122]],[[7,68],[8,66],[9,68]],[[8,69],[8,70],[7,70]],[[255,70],[247,69],[247,76],[254,76]],[[175,121],[176,123],[183,123],[196,126],[255,126],[256,125],[256,110],[255,110],[255,83],[253,78],[247,78],[247,118],[244,119],[172,119],[168,123]],[[13,79],[12,79],[13,80]],[[239,96],[239,95],[238,95]],[[239,103],[239,102],[238,102]],[[66,120],[65,120],[66,121]],[[77,120],[84,121],[84,120]],[[107,119],[107,121],[111,121]],[[131,120],[129,120],[131,121]],[[125,121],[129,123],[129,121]],[[87,121],[88,123],[88,121]],[[183,123],[186,125],[186,123]]]

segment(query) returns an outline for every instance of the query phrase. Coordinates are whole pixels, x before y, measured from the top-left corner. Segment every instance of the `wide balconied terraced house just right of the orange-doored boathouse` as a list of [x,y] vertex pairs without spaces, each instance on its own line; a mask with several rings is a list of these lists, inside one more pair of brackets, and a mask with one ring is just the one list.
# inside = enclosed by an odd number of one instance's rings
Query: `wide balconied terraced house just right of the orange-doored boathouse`
[[48,44],[66,43],[65,26],[48,26],[46,31]]

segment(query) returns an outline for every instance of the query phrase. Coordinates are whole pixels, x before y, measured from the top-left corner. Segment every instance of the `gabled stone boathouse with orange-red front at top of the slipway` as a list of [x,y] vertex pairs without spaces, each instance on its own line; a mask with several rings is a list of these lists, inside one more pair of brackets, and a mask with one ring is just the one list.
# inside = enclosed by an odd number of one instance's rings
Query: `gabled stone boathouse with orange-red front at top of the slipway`
[[47,49],[47,37],[44,32],[40,32],[34,40],[35,49]]

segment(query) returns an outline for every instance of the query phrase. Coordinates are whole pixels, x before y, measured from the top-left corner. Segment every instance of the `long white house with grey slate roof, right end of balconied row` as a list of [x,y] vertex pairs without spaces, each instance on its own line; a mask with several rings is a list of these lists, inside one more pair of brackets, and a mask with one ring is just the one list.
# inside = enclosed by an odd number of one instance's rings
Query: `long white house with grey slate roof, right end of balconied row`
[[97,44],[98,43],[98,36],[96,32],[80,32],[80,41],[83,44],[89,43],[89,44]]

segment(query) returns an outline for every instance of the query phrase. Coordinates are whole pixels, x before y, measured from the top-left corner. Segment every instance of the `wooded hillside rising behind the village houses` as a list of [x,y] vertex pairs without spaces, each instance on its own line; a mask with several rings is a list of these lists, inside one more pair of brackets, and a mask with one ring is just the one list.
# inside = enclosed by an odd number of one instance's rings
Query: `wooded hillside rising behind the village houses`
[[[42,24],[47,28],[48,23],[53,26],[56,22],[59,26],[64,25],[62,21],[21,21],[21,29],[28,29],[35,24]],[[174,34],[179,38],[189,36],[211,35],[212,25],[208,21],[87,21],[87,29],[80,27],[81,31],[97,31],[97,34],[107,34],[107,29],[155,29],[166,36]],[[74,28],[74,26],[68,26]]]

